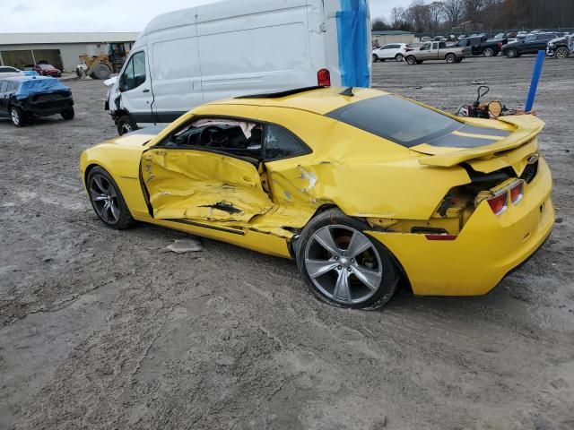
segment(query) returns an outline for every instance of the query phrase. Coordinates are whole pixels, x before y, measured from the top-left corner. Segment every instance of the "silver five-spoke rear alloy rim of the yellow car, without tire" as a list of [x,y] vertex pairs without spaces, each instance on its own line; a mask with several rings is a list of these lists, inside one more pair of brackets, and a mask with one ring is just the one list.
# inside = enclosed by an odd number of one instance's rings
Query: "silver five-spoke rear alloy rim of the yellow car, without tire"
[[360,231],[343,225],[319,228],[309,238],[305,268],[322,294],[349,305],[369,300],[383,279],[375,245]]

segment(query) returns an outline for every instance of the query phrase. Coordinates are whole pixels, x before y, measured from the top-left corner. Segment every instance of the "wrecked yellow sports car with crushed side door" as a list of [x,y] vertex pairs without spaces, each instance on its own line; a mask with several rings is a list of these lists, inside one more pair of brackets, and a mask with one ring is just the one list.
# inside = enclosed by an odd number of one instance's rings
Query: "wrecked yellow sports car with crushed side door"
[[366,89],[206,104],[85,150],[111,228],[149,222],[292,258],[332,305],[474,296],[535,253],[554,222],[535,116],[461,119]]

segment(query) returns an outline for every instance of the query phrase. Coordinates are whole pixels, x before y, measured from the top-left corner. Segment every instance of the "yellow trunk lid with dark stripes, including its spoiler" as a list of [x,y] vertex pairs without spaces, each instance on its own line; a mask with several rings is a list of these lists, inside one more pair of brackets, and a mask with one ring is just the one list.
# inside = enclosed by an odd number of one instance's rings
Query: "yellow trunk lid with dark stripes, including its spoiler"
[[423,166],[449,168],[477,159],[496,159],[533,142],[544,128],[544,122],[532,115],[501,117],[500,128],[489,127],[489,122],[466,121],[461,129],[411,150],[425,155],[419,159]]

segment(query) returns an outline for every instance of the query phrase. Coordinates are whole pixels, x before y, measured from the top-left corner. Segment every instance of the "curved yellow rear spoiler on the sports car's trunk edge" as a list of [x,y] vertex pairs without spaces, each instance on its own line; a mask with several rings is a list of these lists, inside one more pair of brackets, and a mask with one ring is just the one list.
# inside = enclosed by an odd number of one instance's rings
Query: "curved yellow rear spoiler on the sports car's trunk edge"
[[544,122],[533,115],[503,116],[499,120],[514,125],[516,130],[498,142],[478,148],[422,157],[419,163],[423,166],[451,168],[471,159],[491,159],[499,152],[514,150],[531,142],[544,128]]

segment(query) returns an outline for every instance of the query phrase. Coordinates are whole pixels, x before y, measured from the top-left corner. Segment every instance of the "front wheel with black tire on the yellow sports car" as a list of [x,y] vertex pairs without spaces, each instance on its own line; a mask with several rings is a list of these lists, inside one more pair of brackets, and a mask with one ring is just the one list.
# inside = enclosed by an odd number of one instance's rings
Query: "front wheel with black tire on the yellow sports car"
[[[134,225],[135,220],[127,208],[124,196],[114,178],[104,168],[91,168],[86,178],[86,190],[91,207],[106,227],[124,230]],[[108,197],[106,200],[98,200],[104,195]],[[110,206],[107,206],[108,202]]]

